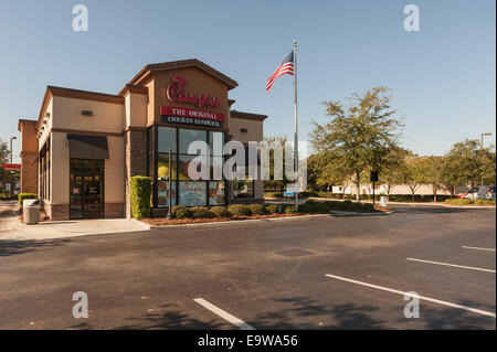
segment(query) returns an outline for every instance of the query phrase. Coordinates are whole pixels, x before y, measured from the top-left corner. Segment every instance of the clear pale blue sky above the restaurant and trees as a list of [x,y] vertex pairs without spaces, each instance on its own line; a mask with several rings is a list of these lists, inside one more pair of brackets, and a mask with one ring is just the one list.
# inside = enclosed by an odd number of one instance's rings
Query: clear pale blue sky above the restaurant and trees
[[[88,8],[88,32],[72,9]],[[406,4],[420,31],[403,28]],[[496,130],[495,0],[1,1],[0,139],[36,119],[46,85],[117,94],[148,63],[197,57],[239,83],[237,110],[266,114],[266,136],[293,136],[290,76],[268,76],[298,41],[299,139],[326,99],[384,85],[402,143],[441,154]],[[14,154],[20,142],[14,142]]]

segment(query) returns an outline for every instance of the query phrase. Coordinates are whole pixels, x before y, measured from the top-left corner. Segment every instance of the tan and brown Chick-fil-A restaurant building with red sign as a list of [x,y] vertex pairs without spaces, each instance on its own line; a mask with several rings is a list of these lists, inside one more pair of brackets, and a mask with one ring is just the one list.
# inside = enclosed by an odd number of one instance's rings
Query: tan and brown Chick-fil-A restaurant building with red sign
[[[20,119],[21,192],[38,193],[52,220],[130,217],[129,181],[154,180],[152,213],[171,205],[263,202],[263,181],[213,177],[223,145],[263,139],[265,115],[232,109],[237,83],[199,60],[146,65],[117,94],[47,86],[38,120]],[[192,180],[188,150],[210,147],[210,177]]]

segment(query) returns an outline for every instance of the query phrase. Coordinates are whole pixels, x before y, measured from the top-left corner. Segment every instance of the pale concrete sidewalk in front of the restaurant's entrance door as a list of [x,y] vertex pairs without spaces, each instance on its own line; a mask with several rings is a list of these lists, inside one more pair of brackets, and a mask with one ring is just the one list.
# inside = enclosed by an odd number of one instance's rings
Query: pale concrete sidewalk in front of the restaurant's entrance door
[[126,218],[46,221],[25,225],[19,220],[17,202],[0,202],[0,241],[52,239],[96,234],[147,231],[141,222]]

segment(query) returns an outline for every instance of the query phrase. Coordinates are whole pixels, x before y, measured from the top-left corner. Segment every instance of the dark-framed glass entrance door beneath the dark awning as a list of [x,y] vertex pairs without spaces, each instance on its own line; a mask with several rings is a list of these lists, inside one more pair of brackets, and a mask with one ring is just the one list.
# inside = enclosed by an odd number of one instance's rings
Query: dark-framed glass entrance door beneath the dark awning
[[71,159],[71,218],[104,217],[104,160]]

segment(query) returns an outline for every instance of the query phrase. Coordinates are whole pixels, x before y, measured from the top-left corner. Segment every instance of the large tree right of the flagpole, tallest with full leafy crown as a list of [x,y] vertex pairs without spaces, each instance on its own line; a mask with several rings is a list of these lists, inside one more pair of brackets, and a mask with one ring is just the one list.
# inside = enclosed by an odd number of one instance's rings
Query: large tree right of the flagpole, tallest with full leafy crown
[[396,146],[401,122],[390,108],[388,88],[374,87],[363,96],[353,94],[348,104],[324,102],[328,124],[314,122],[310,132],[314,150],[355,179],[356,199],[360,201],[361,173],[378,169],[381,160]]

